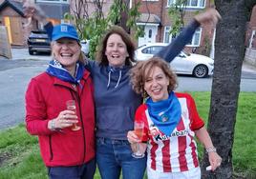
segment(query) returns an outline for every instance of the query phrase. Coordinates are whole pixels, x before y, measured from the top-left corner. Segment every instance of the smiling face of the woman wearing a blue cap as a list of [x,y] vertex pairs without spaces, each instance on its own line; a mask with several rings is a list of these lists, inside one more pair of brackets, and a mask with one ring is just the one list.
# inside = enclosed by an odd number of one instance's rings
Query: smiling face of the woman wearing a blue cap
[[53,41],[53,56],[66,70],[74,70],[79,59],[81,47],[71,38],[60,38]]

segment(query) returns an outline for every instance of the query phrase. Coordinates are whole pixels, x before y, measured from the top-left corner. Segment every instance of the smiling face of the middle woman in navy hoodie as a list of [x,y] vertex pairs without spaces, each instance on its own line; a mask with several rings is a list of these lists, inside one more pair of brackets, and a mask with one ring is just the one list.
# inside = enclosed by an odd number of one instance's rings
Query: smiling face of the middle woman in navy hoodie
[[105,55],[110,66],[122,67],[125,64],[126,57],[129,56],[127,47],[120,35],[113,33],[107,40]]

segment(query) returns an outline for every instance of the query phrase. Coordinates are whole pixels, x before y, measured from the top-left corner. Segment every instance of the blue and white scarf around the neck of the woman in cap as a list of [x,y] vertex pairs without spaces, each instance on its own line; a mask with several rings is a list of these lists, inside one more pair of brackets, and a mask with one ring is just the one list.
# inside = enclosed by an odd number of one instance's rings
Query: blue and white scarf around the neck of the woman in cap
[[80,84],[80,80],[83,77],[85,68],[83,64],[77,62],[75,68],[75,77],[73,77],[68,70],[65,70],[57,60],[52,60],[49,63],[49,67],[46,70],[47,73],[53,75],[60,80],[70,82],[72,84]]

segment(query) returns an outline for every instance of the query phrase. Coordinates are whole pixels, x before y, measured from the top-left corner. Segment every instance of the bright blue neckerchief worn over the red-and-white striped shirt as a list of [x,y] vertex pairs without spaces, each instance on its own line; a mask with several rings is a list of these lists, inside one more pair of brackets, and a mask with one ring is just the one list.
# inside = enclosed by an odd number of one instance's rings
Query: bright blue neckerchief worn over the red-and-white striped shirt
[[159,102],[148,98],[146,105],[154,125],[169,136],[181,120],[181,104],[174,92],[169,94],[168,99]]

